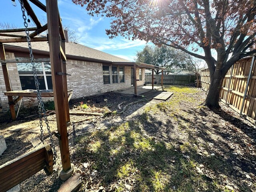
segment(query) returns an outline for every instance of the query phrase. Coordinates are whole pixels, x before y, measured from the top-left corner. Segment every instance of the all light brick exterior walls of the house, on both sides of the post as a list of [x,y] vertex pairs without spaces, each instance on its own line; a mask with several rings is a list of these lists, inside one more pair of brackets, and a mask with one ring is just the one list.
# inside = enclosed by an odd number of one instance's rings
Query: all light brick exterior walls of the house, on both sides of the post
[[[14,58],[13,53],[6,53],[6,58]],[[67,76],[68,89],[73,90],[72,98],[80,98],[83,96],[92,96],[101,94],[104,92],[120,90],[131,87],[131,67],[124,67],[124,82],[123,83],[112,83],[112,76],[110,76],[110,84],[103,84],[103,71],[101,63],[84,62],[76,60],[67,60],[67,73],[71,76]],[[119,69],[119,68],[118,68]],[[20,78],[18,76],[18,70],[16,64],[8,64],[8,72],[12,84],[13,90],[21,90]],[[111,66],[110,66],[111,74]],[[137,69],[137,78],[139,78],[139,69]],[[119,80],[118,80],[119,82]],[[143,85],[145,83],[145,69],[142,72],[142,81],[138,81],[137,85]],[[9,109],[7,96],[4,96],[5,84],[0,67],[0,99],[2,102],[2,109],[6,111]],[[26,105],[28,98],[24,97],[23,101]],[[36,98],[34,104],[37,104]],[[53,98],[43,98],[46,100],[53,100]],[[17,107],[17,106],[16,106]]]

